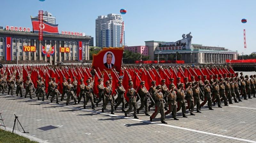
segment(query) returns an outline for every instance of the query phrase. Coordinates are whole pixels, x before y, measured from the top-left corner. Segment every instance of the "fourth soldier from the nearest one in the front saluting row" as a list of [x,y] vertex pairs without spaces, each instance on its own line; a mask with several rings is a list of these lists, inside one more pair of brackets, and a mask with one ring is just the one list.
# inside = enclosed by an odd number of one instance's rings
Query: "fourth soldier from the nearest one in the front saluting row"
[[188,82],[187,83],[188,88],[186,89],[186,99],[188,103],[188,107],[186,109],[190,110],[190,115],[195,115],[194,112],[194,97],[193,97],[193,90],[192,90],[192,83]]

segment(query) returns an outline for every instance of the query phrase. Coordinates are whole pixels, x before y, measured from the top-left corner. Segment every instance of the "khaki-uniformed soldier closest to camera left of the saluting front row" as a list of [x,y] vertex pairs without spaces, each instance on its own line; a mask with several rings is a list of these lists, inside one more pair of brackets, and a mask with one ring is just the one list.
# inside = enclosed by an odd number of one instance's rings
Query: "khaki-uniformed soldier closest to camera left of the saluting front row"
[[125,117],[127,117],[127,114],[132,112],[133,107],[133,116],[135,119],[138,119],[137,117],[137,102],[136,102],[136,91],[133,88],[133,82],[129,82],[129,89],[126,93],[126,96],[129,97],[129,109],[127,111],[124,111]]

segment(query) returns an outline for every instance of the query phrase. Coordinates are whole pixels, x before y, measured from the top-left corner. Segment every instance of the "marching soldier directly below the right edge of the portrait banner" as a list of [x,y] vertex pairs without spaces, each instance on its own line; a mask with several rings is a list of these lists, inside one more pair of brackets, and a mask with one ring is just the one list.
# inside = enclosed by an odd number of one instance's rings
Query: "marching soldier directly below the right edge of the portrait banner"
[[122,103],[122,111],[124,111],[124,102],[125,102],[125,98],[124,98],[124,94],[125,94],[125,89],[122,85],[122,80],[120,80],[118,82],[118,87],[117,87],[117,104],[115,105],[115,110],[116,108]]

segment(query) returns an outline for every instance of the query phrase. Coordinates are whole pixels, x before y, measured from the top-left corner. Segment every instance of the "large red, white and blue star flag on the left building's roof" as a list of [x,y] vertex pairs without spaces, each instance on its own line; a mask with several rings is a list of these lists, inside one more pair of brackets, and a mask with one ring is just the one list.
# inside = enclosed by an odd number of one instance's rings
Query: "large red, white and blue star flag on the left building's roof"
[[38,18],[31,18],[31,21],[35,33],[38,33],[41,28],[44,34],[59,34],[58,24],[51,24],[43,20],[43,24],[40,25]]

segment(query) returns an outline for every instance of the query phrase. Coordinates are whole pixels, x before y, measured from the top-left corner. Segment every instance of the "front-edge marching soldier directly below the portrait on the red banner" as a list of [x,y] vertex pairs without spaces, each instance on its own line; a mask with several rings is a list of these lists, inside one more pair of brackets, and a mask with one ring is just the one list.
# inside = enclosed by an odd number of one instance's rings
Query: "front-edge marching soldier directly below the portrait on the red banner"
[[110,82],[109,81],[106,81],[106,86],[104,91],[103,91],[103,94],[105,96],[105,104],[103,105],[103,108],[101,109],[102,113],[104,113],[104,110],[106,109],[107,105],[108,105],[108,102],[110,103],[111,105],[111,114],[114,114],[113,111],[114,111],[114,100],[112,98],[112,86],[110,86]]

